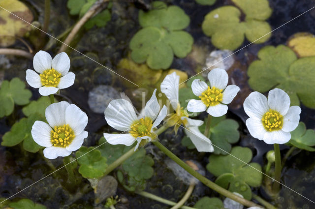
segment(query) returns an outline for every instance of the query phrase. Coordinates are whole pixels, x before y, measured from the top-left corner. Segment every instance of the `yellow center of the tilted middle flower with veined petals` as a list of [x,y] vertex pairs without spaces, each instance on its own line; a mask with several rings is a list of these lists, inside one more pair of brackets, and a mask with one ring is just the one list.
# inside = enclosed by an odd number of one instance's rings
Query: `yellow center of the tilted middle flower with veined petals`
[[131,130],[129,133],[134,137],[144,137],[149,136],[151,137],[151,128],[153,125],[152,119],[145,117],[144,119],[136,120],[131,125]]

